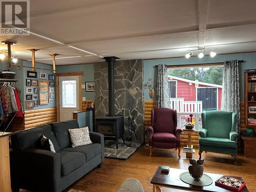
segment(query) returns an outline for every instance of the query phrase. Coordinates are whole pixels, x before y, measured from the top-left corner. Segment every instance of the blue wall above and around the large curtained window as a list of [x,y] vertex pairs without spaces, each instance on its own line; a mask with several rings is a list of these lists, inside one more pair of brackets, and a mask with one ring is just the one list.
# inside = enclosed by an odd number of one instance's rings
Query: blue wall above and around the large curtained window
[[[155,66],[159,64],[165,65],[193,65],[199,63],[213,63],[213,62],[223,62],[224,60],[230,59],[239,59],[245,60],[244,63],[241,63],[239,66],[240,72],[240,98],[241,101],[244,100],[243,95],[243,85],[244,85],[244,70],[245,69],[256,69],[256,53],[238,53],[238,54],[226,54],[226,55],[216,55],[214,58],[211,58],[209,55],[204,56],[203,58],[190,57],[180,57],[180,58],[166,58],[166,59],[150,59],[150,60],[143,60],[143,81],[147,82],[147,79],[152,77],[157,78],[154,75]],[[155,89],[156,90],[156,89]],[[148,89],[144,90],[144,100],[153,100],[148,95]]]

